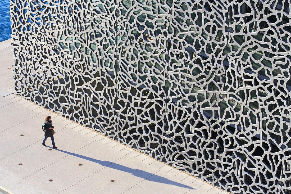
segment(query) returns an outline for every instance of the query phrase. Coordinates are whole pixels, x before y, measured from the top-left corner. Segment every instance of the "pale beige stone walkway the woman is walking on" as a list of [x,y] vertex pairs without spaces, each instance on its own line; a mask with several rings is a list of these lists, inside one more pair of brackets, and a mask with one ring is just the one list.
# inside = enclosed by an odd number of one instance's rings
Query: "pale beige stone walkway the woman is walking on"
[[[0,43],[0,189],[15,194],[226,193],[12,94],[11,50],[10,40]],[[46,115],[52,116],[57,150],[49,150],[50,138],[48,147],[41,145]]]

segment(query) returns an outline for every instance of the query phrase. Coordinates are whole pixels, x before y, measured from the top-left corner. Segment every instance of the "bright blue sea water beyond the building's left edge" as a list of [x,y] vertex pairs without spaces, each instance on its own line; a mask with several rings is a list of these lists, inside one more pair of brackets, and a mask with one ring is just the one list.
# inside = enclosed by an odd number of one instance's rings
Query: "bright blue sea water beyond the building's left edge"
[[10,1],[0,0],[0,42],[11,38]]

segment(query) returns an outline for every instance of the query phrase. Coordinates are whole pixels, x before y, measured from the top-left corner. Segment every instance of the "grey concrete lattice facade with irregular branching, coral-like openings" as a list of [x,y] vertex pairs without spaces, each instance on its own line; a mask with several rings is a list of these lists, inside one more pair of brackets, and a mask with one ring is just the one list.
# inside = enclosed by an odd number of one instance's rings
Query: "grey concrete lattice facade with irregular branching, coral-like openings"
[[288,0],[11,0],[15,90],[231,193],[290,193]]

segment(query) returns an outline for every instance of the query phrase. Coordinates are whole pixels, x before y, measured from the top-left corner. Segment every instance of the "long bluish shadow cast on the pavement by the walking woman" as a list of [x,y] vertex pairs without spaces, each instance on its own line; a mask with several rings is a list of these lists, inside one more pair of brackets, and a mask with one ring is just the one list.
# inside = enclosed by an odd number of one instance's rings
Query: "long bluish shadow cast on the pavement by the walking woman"
[[129,168],[127,166],[116,164],[116,163],[113,163],[113,162],[110,162],[110,161],[97,160],[97,159],[94,159],[94,158],[90,158],[90,157],[87,157],[87,156],[82,156],[80,154],[74,154],[74,153],[71,153],[71,152],[68,152],[68,151],[64,151],[64,150],[61,150],[61,149],[57,149],[57,150],[61,151],[63,153],[66,153],[66,154],[70,154],[72,156],[76,156],[76,157],[83,158],[83,159],[88,160],[88,161],[92,161],[92,162],[98,163],[98,164],[100,164],[102,166],[105,166],[105,167],[109,167],[109,168],[113,168],[113,169],[116,169],[116,170],[121,170],[123,172],[131,173],[132,175],[134,175],[136,177],[141,177],[143,179],[147,179],[148,181],[154,181],[154,182],[159,182],[159,183],[164,183],[164,184],[184,187],[184,188],[188,188],[188,189],[193,189],[193,187],[190,187],[190,186],[187,186],[187,185],[175,182],[175,181],[171,181],[171,180],[169,180],[167,178],[164,178],[164,177],[161,177],[161,176],[158,176],[156,174],[152,174],[152,173],[149,173],[149,172],[146,172],[146,171],[143,171],[143,170]]

